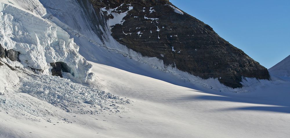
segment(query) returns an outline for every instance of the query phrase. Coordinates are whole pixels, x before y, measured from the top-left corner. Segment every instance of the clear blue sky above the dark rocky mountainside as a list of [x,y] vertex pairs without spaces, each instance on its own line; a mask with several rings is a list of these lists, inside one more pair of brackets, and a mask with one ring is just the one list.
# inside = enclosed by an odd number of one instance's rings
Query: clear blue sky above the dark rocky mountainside
[[266,68],[290,55],[290,0],[170,0]]

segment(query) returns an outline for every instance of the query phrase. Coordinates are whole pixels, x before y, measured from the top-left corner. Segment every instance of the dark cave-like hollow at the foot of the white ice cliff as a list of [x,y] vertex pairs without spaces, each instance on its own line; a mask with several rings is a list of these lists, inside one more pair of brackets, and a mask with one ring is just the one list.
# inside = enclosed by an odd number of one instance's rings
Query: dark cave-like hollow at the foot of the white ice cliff
[[51,69],[52,76],[59,76],[63,78],[62,72],[70,73],[70,67],[64,62],[50,63],[50,66],[52,66],[52,69]]

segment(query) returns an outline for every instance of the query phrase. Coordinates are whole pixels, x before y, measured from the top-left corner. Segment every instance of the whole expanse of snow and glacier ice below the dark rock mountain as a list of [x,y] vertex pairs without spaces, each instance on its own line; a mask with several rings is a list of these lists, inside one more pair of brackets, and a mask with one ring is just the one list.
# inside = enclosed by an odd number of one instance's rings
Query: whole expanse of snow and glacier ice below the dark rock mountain
[[290,82],[246,78],[231,89],[165,67],[95,26],[106,20],[83,0],[0,5],[0,137],[290,135]]

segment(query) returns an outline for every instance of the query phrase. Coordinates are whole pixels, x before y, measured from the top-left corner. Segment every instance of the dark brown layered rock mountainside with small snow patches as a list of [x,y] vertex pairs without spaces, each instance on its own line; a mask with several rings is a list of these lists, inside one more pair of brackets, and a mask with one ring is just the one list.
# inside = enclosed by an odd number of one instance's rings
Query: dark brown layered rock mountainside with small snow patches
[[[221,38],[209,25],[185,12],[175,12],[177,9],[168,0],[90,1],[96,12],[106,7],[122,13],[133,7],[122,25],[111,26],[111,35],[143,56],[157,57],[165,65],[203,79],[218,78],[232,88],[242,87],[242,77],[269,79],[265,67]],[[103,14],[107,20],[114,18],[106,11]]]

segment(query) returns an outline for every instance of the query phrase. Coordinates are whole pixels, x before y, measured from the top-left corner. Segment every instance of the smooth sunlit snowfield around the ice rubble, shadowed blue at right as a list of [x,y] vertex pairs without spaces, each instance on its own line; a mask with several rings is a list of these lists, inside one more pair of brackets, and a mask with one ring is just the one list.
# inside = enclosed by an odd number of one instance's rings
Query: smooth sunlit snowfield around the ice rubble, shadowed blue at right
[[[20,103],[41,114],[25,110],[15,113],[0,106],[0,136],[282,138],[290,135],[290,82],[273,80],[249,93],[197,91],[90,63],[94,66],[92,72],[98,76],[94,84],[130,99],[131,104],[121,105],[121,112],[70,113],[30,95],[11,92],[10,97],[17,96],[15,99]],[[4,67],[0,66],[0,70]]]

